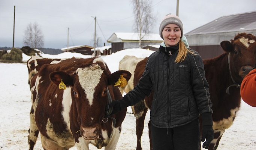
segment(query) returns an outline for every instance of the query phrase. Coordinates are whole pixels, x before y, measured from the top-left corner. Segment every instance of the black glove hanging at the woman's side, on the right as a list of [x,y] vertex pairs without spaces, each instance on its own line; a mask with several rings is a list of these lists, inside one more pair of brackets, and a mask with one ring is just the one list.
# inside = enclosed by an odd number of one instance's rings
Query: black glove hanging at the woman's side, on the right
[[209,148],[210,143],[213,140],[213,137],[214,137],[213,126],[212,125],[203,125],[201,141],[204,142],[206,139],[206,141],[203,143],[203,148],[205,148],[205,149]]

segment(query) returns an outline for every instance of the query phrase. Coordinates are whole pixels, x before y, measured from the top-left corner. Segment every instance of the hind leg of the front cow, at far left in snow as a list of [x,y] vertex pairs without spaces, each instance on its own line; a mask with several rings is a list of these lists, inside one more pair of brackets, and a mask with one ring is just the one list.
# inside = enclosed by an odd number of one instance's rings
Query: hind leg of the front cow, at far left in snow
[[34,109],[32,106],[30,110],[30,128],[28,130],[28,146],[30,150],[34,149],[34,145],[36,144],[38,134],[39,129],[36,126],[36,121],[34,119]]

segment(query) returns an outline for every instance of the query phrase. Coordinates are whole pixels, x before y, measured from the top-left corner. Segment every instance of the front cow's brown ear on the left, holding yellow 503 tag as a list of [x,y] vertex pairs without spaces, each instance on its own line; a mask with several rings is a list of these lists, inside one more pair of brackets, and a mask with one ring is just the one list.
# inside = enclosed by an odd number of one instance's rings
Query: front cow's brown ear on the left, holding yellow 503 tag
[[49,75],[49,78],[56,85],[59,85],[60,81],[63,80],[64,84],[72,86],[71,76],[64,71],[54,71]]

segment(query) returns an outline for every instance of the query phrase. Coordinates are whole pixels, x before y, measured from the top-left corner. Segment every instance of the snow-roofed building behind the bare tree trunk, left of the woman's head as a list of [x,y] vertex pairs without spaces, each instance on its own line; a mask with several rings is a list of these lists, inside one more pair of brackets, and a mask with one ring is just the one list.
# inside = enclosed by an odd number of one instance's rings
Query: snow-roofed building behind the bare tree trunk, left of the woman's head
[[[124,32],[115,32],[107,40],[108,43],[111,43],[111,51],[115,53],[123,49],[132,49],[139,47],[139,35],[138,33],[124,33]],[[147,34],[142,38],[142,47],[148,45],[160,44],[163,42],[163,39],[160,38],[159,34]]]

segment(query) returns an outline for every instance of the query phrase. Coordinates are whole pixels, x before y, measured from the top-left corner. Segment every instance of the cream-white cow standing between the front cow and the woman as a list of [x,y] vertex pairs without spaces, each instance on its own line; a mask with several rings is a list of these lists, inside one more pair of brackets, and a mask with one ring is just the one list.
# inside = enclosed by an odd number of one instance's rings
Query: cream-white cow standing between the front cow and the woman
[[120,60],[118,69],[129,71],[132,74],[130,80],[127,82],[127,85],[124,86],[123,88],[119,87],[121,94],[123,94],[123,92],[128,93],[130,90],[134,88],[133,87],[134,70],[136,68],[137,63],[140,62],[142,59],[144,58],[125,55],[123,59]]

